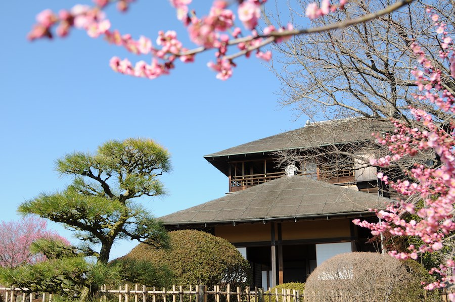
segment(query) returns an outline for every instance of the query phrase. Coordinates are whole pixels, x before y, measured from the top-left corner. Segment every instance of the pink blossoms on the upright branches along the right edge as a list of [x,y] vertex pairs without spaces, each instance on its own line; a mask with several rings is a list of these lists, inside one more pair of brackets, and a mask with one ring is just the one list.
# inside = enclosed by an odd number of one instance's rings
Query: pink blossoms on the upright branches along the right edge
[[[452,39],[447,36],[446,25],[438,23],[439,17],[432,9],[427,9],[435,23],[439,35],[441,50],[439,57],[448,64],[448,74],[442,74],[423,49],[416,43],[411,49],[421,68],[413,71],[419,93],[417,99],[428,99],[441,112],[451,117],[442,122],[435,122],[428,112],[411,108],[411,113],[421,128],[411,128],[405,123],[394,121],[395,130],[384,138],[378,137],[381,144],[387,145],[389,156],[371,161],[377,167],[387,167],[405,157],[416,157],[422,153],[434,154],[432,163],[415,164],[404,171],[405,178],[391,181],[387,175],[378,173],[378,178],[390,185],[403,198],[390,204],[386,209],[377,211],[379,223],[355,220],[354,223],[370,228],[373,234],[389,231],[397,236],[417,236],[423,242],[421,246],[409,246],[408,253],[390,251],[389,254],[399,259],[417,259],[420,253],[434,252],[449,244],[452,232],[455,231],[455,95],[444,88],[442,81],[455,80],[455,59]],[[417,160],[416,160],[417,162]],[[417,198],[416,198],[417,196]],[[423,207],[417,207],[423,201]],[[405,221],[405,213],[416,215],[418,219]],[[455,276],[449,274],[455,269],[455,262],[449,257],[444,264],[433,268],[430,273],[439,273],[441,280],[428,284],[427,289],[444,287],[455,282]],[[455,300],[455,296],[451,297]]]

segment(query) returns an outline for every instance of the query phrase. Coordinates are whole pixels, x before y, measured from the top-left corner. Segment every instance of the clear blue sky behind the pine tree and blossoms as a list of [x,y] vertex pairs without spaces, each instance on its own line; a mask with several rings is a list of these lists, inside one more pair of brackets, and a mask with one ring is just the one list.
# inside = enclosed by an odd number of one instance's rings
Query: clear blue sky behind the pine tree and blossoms
[[[19,219],[21,202],[65,187],[70,178],[55,172],[57,158],[127,137],[152,138],[172,155],[173,171],[161,177],[168,195],[147,198],[145,206],[157,217],[186,209],[228,190],[228,179],[204,155],[304,124],[304,118],[293,121],[290,108],[280,108],[275,94],[280,83],[256,58],[238,60],[228,81],[215,79],[206,67],[212,53],[198,56],[194,64],[177,64],[170,76],[147,80],[114,73],[112,56],[140,58],[85,32],[26,40],[38,12],[77,3],[84,2],[0,4],[0,220]],[[209,2],[200,3],[206,5],[202,15]],[[154,41],[160,29],[186,34],[166,0],[140,0],[127,14],[109,10],[108,17],[113,28],[133,38],[144,34]],[[51,227],[71,240],[70,232]],[[111,256],[125,255],[135,244],[120,241]]]

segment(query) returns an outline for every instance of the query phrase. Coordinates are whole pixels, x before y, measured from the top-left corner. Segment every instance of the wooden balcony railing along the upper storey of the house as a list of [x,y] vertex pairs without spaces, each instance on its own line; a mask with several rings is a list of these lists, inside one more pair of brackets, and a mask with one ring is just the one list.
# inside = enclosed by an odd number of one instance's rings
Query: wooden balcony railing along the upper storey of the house
[[[274,180],[282,177],[286,173],[284,172],[273,172],[266,174],[249,174],[240,176],[231,176],[230,192],[237,192],[251,186],[255,186],[269,180]],[[355,181],[355,175],[353,170],[319,170],[312,173],[300,173],[296,171],[296,174],[310,177],[312,179],[322,180],[329,183],[351,183]]]

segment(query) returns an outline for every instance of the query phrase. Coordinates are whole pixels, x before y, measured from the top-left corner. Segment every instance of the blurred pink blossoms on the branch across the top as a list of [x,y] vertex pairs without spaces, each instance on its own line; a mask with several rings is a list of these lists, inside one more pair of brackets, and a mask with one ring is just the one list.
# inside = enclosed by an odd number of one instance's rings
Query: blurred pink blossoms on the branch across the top
[[[255,52],[256,57],[265,61],[271,59],[270,51],[261,51],[270,42],[280,43],[289,39],[290,35],[274,35],[292,31],[292,25],[276,28],[267,26],[262,34],[257,32],[258,22],[261,17],[261,6],[266,0],[243,0],[237,7],[237,18],[243,29],[236,25],[236,13],[229,8],[230,3],[225,0],[215,0],[209,14],[197,17],[196,12],[190,9],[192,0],[170,0],[175,8],[177,19],[188,29],[190,40],[200,46],[193,50],[183,47],[177,39],[175,31],[160,31],[153,46],[150,38],[141,36],[135,40],[129,34],[120,34],[118,30],[111,30],[111,23],[106,19],[104,8],[112,3],[117,3],[120,11],[126,11],[134,0],[93,0],[95,6],[76,5],[71,10],[62,10],[58,14],[51,10],[44,10],[36,17],[37,23],[28,35],[30,40],[39,38],[52,38],[55,33],[64,37],[71,28],[82,29],[92,38],[104,36],[115,45],[122,46],[135,55],[151,56],[150,63],[140,60],[133,64],[128,59],[113,57],[110,61],[111,68],[119,73],[154,79],[160,75],[169,74],[175,67],[174,61],[178,58],[181,62],[194,62],[197,53],[214,49],[215,62],[209,62],[209,68],[217,72],[216,77],[226,80],[232,76],[236,66],[234,59],[240,56],[250,57]],[[323,16],[336,9],[343,9],[347,0],[341,0],[339,5],[330,5],[324,0],[321,9],[310,4],[307,10],[312,11],[310,18]],[[317,15],[317,16],[316,16]],[[268,38],[268,39],[267,39]],[[235,54],[229,55],[233,48]]]

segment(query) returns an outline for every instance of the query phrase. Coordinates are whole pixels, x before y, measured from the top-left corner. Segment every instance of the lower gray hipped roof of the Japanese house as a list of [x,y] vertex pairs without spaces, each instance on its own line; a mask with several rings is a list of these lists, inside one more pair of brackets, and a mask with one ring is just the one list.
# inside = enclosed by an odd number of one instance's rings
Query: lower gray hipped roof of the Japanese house
[[160,218],[164,225],[253,222],[360,214],[390,199],[313,180],[283,176]]

